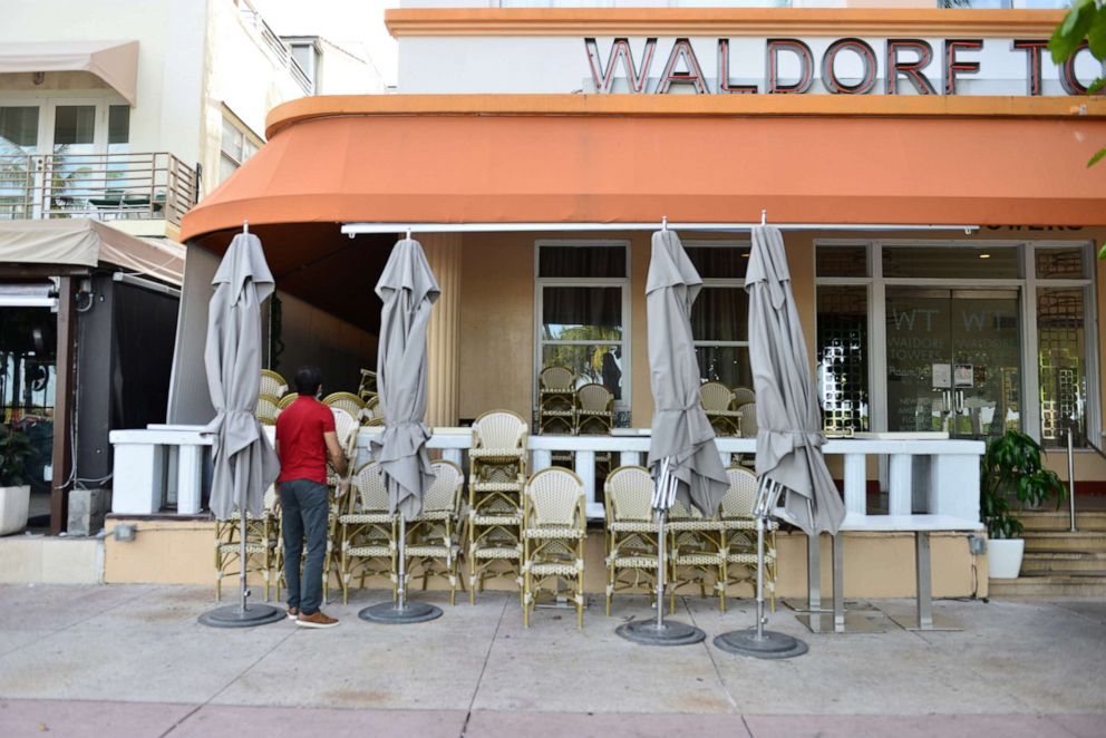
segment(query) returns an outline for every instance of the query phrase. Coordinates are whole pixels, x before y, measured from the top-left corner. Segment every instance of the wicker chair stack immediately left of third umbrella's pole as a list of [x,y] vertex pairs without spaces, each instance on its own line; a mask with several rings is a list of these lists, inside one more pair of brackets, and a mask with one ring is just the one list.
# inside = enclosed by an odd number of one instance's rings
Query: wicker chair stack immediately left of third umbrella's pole
[[[615,592],[657,591],[653,480],[643,466],[620,466],[603,485],[607,499],[607,614]],[[627,581],[623,574],[632,574]]]

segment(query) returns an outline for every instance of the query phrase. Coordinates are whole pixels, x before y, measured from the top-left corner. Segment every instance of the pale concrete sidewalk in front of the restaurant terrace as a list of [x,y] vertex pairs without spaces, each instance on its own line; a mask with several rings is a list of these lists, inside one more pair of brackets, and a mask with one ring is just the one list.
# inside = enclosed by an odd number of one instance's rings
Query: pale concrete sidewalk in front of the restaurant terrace
[[[584,630],[488,593],[434,622],[386,627],[356,613],[328,631],[196,622],[208,588],[0,586],[0,736],[1104,736],[1106,601],[939,601],[963,632],[815,635],[780,606],[770,628],[803,638],[787,661],[709,643],[753,623],[750,603],[678,600],[706,644],[649,649],[614,635],[643,598],[601,600]],[[618,601],[615,601],[618,603]],[[863,608],[865,603],[860,603]],[[860,611],[860,609],[857,609]]]

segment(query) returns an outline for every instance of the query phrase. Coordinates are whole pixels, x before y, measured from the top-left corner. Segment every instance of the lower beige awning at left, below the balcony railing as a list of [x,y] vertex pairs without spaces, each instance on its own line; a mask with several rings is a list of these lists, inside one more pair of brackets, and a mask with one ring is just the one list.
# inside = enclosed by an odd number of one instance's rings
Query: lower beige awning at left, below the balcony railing
[[0,262],[114,264],[180,285],[184,253],[167,239],[138,239],[87,219],[0,221]]

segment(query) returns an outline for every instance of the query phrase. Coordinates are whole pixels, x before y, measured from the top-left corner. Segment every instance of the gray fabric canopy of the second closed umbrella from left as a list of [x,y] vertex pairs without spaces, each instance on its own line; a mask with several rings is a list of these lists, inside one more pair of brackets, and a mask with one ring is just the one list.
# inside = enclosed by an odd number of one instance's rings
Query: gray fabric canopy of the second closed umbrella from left
[[384,433],[372,441],[388,486],[388,507],[405,517],[423,509],[423,496],[434,483],[426,441],[426,331],[430,309],[442,290],[418,241],[405,239],[391,250],[377,282],[380,344],[377,389],[384,409]]

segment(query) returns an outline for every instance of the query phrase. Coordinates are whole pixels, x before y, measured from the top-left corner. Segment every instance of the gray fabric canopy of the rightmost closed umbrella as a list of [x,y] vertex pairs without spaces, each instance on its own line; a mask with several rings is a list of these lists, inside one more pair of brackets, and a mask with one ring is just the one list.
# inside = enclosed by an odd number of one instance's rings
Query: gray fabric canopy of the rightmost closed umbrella
[[822,455],[822,418],[778,229],[753,229],[745,290],[759,426],[757,476],[784,486],[782,519],[808,535],[836,533],[845,507]]

